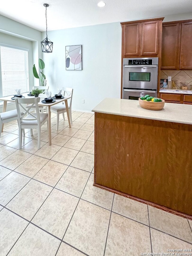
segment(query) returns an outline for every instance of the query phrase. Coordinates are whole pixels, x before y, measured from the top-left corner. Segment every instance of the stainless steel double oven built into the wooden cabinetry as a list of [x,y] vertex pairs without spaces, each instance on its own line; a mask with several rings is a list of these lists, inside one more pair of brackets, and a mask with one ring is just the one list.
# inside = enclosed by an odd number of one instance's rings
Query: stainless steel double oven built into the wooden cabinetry
[[157,97],[158,58],[123,59],[123,99]]

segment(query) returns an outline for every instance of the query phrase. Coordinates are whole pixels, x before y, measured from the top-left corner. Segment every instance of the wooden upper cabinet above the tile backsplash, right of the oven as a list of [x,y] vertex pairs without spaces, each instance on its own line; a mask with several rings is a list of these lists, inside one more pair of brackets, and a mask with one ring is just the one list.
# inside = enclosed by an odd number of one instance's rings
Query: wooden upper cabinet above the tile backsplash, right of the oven
[[192,20],[163,23],[161,69],[192,69]]

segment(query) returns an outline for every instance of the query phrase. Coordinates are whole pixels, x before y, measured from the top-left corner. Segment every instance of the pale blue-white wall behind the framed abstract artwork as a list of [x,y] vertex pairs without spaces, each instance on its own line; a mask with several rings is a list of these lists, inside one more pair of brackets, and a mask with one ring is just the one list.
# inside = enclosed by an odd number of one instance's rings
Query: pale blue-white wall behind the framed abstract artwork
[[[52,94],[57,93],[57,88],[72,87],[72,108],[88,111],[106,97],[120,98],[120,23],[48,31],[48,38],[53,41],[53,52],[43,53],[44,73]],[[80,44],[82,71],[66,71],[65,46]]]

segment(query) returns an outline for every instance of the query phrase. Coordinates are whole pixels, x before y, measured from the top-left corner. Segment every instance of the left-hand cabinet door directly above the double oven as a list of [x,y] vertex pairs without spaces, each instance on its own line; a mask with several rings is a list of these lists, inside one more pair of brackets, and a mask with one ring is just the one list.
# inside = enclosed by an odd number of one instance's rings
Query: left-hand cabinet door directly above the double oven
[[140,23],[126,24],[124,56],[140,55]]

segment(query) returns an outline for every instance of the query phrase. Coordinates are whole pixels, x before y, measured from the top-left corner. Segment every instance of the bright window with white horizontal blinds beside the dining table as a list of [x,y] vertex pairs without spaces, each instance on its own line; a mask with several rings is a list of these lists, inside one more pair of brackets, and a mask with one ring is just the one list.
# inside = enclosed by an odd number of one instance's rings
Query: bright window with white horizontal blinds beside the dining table
[[2,96],[29,92],[28,51],[0,46]]

